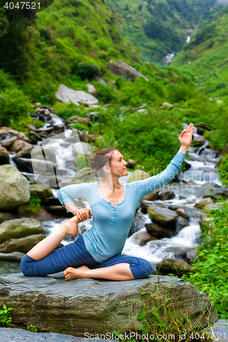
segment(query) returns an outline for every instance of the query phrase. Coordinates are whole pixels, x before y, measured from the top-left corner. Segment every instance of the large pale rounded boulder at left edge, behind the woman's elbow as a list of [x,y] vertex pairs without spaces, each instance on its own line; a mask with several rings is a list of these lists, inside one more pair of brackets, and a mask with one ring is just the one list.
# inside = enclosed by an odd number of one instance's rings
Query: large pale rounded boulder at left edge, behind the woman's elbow
[[0,210],[10,210],[30,199],[29,181],[14,166],[0,166]]

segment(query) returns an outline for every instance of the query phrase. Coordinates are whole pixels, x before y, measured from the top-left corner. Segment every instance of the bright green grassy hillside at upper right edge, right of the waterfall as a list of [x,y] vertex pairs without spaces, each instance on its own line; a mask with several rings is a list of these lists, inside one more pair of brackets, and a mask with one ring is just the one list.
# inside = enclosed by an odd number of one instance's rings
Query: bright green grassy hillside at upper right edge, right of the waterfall
[[227,102],[228,6],[192,37],[173,66],[192,70],[196,83],[214,101]]

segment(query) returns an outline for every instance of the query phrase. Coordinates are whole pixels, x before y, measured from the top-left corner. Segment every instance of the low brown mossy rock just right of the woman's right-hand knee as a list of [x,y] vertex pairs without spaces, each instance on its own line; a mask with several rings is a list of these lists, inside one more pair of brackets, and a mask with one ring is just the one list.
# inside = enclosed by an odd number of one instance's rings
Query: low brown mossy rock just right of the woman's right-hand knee
[[[163,273],[189,273],[192,271],[192,266],[180,259],[165,258],[160,263],[157,263],[157,269]],[[195,273],[195,271],[194,271]]]

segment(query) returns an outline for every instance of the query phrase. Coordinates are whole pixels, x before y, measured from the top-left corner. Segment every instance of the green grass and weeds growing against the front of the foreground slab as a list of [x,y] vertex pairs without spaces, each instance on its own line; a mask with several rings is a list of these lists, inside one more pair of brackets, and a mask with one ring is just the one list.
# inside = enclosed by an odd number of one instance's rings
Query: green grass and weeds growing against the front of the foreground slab
[[[128,327],[124,328],[126,335],[131,332],[131,342],[136,341],[211,341],[210,332],[204,328],[199,328],[201,319],[207,316],[208,322],[211,320],[210,311],[212,304],[207,303],[201,308],[201,311],[191,311],[194,303],[190,302],[189,298],[185,300],[183,306],[183,291],[178,289],[178,286],[173,288],[162,285],[160,280],[153,284],[148,284],[148,280],[143,280],[148,286],[141,287],[140,299],[137,300],[132,307],[133,313],[136,315],[136,320],[143,323],[143,328],[137,332]],[[151,289],[152,287],[152,289]],[[189,289],[194,291],[194,289]],[[189,292],[189,296],[190,296]],[[191,297],[191,296],[190,296]],[[129,305],[129,304],[128,304]],[[189,305],[189,312],[186,308]],[[192,317],[198,316],[197,319]],[[210,327],[210,324],[208,324]],[[208,328],[207,327],[207,328]],[[126,331],[127,330],[127,331]],[[129,341],[125,339],[125,335],[120,334],[120,331],[112,331],[116,341]],[[143,337],[144,335],[144,337]],[[134,338],[135,337],[135,338]],[[140,338],[141,337],[141,338]]]

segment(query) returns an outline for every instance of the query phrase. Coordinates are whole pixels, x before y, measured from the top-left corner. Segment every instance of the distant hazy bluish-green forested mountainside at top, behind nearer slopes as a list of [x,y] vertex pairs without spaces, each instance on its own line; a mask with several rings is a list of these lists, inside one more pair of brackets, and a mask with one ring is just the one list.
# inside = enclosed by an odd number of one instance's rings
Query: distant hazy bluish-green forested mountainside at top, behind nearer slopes
[[[124,19],[121,34],[142,49],[140,60],[160,62],[181,51],[186,37],[212,17],[221,5],[216,0],[107,0]],[[130,18],[127,18],[131,14]]]

